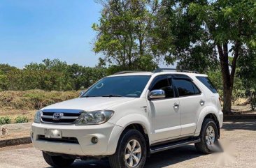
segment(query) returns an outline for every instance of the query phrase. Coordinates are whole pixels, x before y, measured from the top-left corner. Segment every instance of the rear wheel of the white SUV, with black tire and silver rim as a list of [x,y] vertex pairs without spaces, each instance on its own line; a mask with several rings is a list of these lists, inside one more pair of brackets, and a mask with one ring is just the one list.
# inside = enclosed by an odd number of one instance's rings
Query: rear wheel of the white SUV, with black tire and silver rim
[[218,146],[218,128],[213,119],[205,119],[199,135],[201,142],[194,144],[200,153],[210,154]]

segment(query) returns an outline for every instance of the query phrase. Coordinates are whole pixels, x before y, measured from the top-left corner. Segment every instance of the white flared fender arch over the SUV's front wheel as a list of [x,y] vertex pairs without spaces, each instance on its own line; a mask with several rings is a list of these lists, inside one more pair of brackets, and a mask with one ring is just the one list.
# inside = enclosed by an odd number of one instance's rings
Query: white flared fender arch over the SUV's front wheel
[[108,154],[115,153],[122,132],[125,130],[125,128],[127,128],[128,125],[134,123],[142,125],[145,132],[148,134],[148,138],[150,139],[150,123],[148,119],[141,114],[129,114],[122,117],[117,123],[115,123],[115,128],[113,129],[111,137],[108,141]]

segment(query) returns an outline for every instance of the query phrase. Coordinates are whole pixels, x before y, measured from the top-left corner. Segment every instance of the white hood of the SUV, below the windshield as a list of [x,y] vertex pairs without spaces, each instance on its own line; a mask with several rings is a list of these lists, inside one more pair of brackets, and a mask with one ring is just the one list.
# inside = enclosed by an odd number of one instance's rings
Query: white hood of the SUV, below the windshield
[[113,105],[122,104],[134,100],[135,98],[108,98],[108,97],[96,97],[96,98],[75,98],[64,102],[58,102],[54,105],[49,105],[43,109],[82,109],[90,112],[94,110],[103,110],[112,107]]

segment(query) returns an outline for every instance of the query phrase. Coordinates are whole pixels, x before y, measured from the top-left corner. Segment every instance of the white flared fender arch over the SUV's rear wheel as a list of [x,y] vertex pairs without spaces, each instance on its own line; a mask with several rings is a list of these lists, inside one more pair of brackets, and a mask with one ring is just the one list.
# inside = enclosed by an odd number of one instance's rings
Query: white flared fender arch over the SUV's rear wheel
[[218,121],[220,122],[220,116],[218,114],[218,109],[216,109],[213,106],[206,106],[204,107],[204,109],[201,110],[198,120],[197,120],[197,128],[196,131],[194,133],[195,136],[199,136],[200,132],[201,132],[201,125],[203,124],[204,118],[208,115],[208,114],[215,114],[215,116],[217,117]]

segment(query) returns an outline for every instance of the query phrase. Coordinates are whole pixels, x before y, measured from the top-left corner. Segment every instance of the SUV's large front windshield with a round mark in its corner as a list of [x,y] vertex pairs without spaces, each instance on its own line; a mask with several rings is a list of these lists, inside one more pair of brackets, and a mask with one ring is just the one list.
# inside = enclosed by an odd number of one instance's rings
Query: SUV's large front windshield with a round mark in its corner
[[88,89],[81,97],[139,98],[149,79],[149,75],[105,77]]

